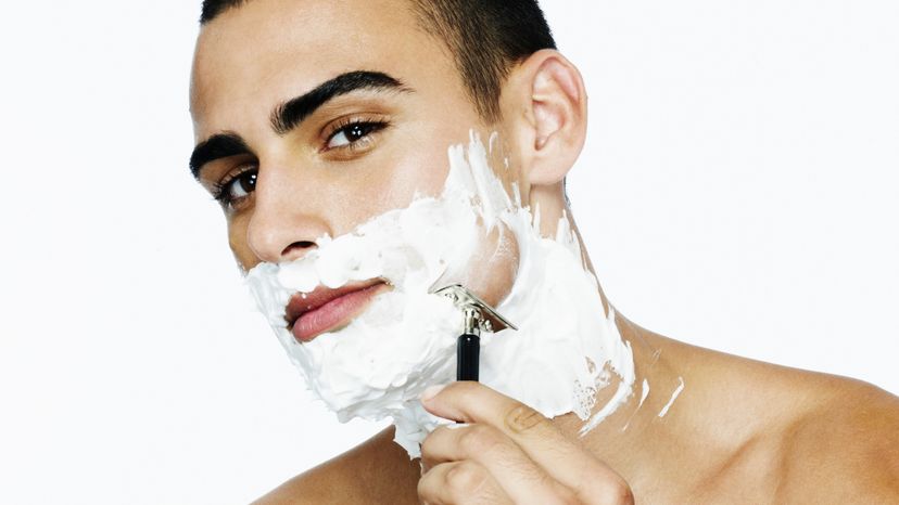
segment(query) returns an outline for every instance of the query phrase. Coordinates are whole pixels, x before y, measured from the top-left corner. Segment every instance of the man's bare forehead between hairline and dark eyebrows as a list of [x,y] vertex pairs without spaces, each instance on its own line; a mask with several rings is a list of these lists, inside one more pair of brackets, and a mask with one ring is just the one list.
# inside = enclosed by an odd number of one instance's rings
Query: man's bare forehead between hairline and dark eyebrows
[[408,83],[445,80],[451,62],[406,0],[251,0],[201,31],[191,112],[217,124],[221,111],[239,114],[237,104],[276,104],[360,69]]

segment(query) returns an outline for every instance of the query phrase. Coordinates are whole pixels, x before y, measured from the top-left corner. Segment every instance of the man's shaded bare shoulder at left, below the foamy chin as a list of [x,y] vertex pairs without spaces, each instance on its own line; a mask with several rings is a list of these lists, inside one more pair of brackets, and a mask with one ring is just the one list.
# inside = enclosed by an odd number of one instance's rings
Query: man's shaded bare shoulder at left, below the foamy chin
[[365,443],[279,485],[254,505],[417,504],[418,462],[387,429]]

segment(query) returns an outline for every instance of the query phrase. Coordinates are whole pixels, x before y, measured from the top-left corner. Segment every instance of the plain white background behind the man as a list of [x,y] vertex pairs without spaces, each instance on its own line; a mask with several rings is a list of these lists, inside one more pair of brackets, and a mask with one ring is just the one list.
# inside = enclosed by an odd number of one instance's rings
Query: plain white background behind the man
[[[239,504],[378,427],[305,399],[187,170],[199,0],[0,16],[0,502]],[[607,294],[899,391],[899,3],[547,1]]]

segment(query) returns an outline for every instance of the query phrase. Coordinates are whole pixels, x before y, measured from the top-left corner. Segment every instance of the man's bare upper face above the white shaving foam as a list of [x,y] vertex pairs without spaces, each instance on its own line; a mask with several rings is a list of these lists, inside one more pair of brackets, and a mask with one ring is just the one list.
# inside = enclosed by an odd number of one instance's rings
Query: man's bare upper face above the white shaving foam
[[324,234],[439,194],[447,146],[471,128],[486,139],[448,50],[409,9],[253,0],[204,28],[191,112],[198,144],[213,141],[199,178],[220,186],[243,269],[296,259]]

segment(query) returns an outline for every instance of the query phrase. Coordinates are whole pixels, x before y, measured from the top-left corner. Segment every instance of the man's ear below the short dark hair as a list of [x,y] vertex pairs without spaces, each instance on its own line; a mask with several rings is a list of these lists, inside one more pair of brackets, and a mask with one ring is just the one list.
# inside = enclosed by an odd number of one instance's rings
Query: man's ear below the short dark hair
[[560,183],[586,138],[587,99],[578,68],[558,51],[537,51],[509,74],[501,107],[528,183]]

